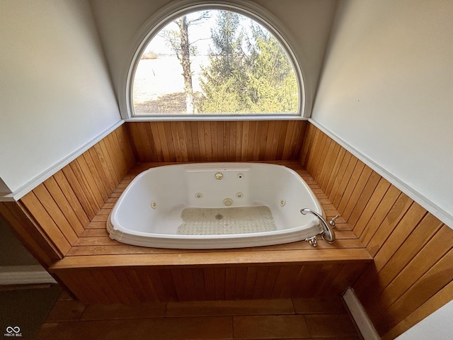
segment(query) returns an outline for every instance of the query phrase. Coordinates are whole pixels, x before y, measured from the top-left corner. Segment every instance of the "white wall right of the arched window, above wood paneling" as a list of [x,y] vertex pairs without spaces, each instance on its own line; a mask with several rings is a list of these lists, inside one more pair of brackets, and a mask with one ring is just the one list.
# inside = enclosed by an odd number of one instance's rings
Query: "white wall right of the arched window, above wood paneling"
[[453,227],[453,1],[338,5],[311,117]]

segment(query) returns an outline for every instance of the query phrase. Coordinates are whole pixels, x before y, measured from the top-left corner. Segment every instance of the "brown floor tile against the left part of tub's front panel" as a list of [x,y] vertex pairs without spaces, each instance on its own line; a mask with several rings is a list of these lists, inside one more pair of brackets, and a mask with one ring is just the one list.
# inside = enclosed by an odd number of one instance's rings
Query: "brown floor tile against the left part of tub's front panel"
[[166,303],[153,302],[140,305],[88,305],[85,307],[81,319],[84,320],[114,320],[114,319],[144,319],[150,317],[164,317]]

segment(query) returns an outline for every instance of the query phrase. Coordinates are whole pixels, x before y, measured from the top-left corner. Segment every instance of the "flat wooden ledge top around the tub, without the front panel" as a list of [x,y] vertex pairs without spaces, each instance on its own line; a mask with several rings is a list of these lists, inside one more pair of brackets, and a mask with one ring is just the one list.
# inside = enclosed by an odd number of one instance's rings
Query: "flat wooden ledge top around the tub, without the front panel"
[[[327,218],[338,214],[328,198],[300,162],[272,162],[297,171],[318,196]],[[307,242],[293,242],[275,246],[259,246],[243,249],[156,249],[122,244],[108,237],[105,229],[110,210],[117,198],[132,179],[145,169],[170,163],[141,163],[125,176],[108,203],[93,218],[63,259],[50,266],[50,272],[76,268],[103,268],[126,266],[277,266],[329,263],[368,263],[372,261],[362,242],[350,226],[339,217],[336,225],[337,241],[328,244],[319,241],[316,248]],[[171,163],[173,164],[173,163]]]

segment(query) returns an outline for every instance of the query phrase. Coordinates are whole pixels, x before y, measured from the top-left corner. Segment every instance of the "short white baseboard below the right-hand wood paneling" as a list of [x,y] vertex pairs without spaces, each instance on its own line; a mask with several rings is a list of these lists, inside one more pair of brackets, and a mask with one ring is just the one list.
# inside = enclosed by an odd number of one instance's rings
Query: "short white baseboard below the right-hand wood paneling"
[[374,328],[371,320],[369,319],[367,312],[363,308],[360,300],[354,293],[352,288],[348,288],[345,293],[343,293],[343,300],[345,301],[348,309],[352,315],[352,318],[359,327],[360,333],[365,340],[379,340],[381,337],[377,334],[376,329]]

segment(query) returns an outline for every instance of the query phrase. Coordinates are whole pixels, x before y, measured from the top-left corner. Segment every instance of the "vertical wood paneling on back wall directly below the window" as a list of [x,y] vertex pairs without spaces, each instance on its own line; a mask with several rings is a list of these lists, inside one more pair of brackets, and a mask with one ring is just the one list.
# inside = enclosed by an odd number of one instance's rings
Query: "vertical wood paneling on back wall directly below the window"
[[299,159],[304,120],[126,123],[137,162]]

